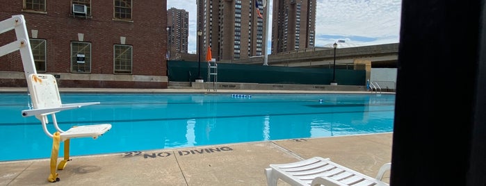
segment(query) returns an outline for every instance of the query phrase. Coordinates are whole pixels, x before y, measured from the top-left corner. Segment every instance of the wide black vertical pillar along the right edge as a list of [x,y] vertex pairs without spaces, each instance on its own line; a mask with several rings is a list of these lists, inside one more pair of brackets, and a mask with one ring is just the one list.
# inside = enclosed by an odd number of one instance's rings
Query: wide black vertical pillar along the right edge
[[403,1],[391,185],[486,185],[484,3]]

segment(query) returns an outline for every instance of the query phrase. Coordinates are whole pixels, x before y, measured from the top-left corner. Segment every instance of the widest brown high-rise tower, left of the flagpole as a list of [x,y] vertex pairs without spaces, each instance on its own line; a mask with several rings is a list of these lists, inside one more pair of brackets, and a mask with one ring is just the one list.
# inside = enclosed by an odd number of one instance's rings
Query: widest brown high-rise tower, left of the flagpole
[[262,0],[197,0],[201,53],[205,55],[210,46],[217,61],[264,55],[268,16],[264,6]]

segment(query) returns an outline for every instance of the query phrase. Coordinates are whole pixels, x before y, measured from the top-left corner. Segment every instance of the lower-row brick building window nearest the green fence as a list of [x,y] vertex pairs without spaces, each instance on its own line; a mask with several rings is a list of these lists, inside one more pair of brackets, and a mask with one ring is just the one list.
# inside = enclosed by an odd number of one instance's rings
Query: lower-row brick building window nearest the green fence
[[113,66],[115,74],[131,74],[132,48],[129,45],[115,44],[113,47]]

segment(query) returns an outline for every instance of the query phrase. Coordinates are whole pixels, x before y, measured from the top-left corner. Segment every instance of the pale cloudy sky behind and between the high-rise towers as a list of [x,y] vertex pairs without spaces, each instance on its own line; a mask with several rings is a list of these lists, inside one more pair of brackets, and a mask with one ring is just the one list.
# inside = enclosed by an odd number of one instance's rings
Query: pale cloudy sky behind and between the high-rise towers
[[[316,1],[315,47],[330,46],[338,40],[356,46],[399,42],[401,0]],[[272,0],[267,2],[270,3],[271,12]],[[189,12],[189,53],[196,51],[196,6],[196,0],[167,0],[167,9],[177,8]],[[272,19],[271,15],[269,18]],[[270,39],[267,43],[270,54]]]

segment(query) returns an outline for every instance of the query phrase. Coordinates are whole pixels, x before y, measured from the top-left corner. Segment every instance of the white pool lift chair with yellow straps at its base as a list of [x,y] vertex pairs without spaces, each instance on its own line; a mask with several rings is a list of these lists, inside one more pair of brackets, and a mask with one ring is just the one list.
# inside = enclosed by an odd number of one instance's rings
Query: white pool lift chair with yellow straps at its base
[[[70,139],[79,137],[92,137],[93,139],[97,139],[97,137],[103,135],[111,129],[111,124],[74,126],[69,130],[61,130],[56,120],[57,112],[81,108],[85,105],[95,105],[99,104],[99,102],[69,104],[61,103],[56,78],[51,74],[37,74],[31,45],[29,42],[29,36],[27,35],[26,22],[23,15],[13,15],[10,19],[0,22],[0,34],[11,30],[15,30],[17,41],[1,46],[0,56],[4,56],[17,50],[20,51],[33,107],[29,110],[22,110],[22,116],[35,116],[42,123],[44,133],[53,139],[50,174],[47,180],[49,180],[49,182],[56,182],[60,180],[58,178],[58,174],[56,173],[60,142],[64,142],[64,159],[59,162],[57,169],[63,170],[67,164],[67,161],[70,161]],[[47,130],[49,116],[52,119],[54,128],[56,128],[56,132],[54,132],[54,134],[49,133],[49,130]]]

